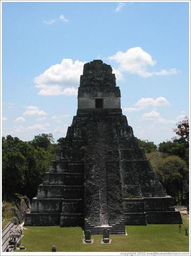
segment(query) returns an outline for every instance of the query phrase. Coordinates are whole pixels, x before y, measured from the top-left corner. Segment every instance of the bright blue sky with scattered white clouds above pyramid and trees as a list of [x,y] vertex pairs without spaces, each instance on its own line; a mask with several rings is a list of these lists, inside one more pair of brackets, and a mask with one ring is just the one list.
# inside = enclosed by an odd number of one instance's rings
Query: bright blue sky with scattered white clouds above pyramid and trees
[[189,3],[3,2],[2,135],[66,136],[83,64],[110,64],[137,138],[189,114]]

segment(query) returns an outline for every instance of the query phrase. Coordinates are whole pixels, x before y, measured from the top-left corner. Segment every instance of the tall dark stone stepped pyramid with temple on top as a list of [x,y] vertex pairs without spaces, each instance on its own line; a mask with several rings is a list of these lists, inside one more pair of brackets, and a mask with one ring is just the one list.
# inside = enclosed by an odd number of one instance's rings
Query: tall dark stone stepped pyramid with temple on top
[[76,116],[25,225],[125,234],[125,225],[182,223],[122,114],[115,80],[101,60],[84,65]]

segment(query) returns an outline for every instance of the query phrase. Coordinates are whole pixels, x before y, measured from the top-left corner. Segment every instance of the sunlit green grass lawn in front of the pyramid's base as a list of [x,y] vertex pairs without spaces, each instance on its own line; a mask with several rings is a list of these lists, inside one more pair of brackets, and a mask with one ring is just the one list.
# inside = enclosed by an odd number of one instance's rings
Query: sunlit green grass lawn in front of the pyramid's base
[[93,244],[83,244],[81,228],[25,227],[22,245],[27,247],[24,252],[51,252],[52,245],[58,252],[188,252],[189,236],[185,236],[184,228],[189,228],[189,218],[186,214],[182,218],[181,233],[178,224],[126,226],[128,235],[110,235],[111,244],[101,244],[101,235],[91,236]]

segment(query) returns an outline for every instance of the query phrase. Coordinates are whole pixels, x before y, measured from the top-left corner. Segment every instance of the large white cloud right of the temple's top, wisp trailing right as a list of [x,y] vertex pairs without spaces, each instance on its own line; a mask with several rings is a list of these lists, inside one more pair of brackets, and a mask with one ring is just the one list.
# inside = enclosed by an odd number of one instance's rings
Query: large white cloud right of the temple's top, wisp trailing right
[[125,53],[119,51],[114,55],[108,57],[108,59],[114,60],[119,64],[119,67],[117,68],[119,71],[137,74],[145,78],[154,75],[171,75],[179,72],[176,68],[149,72],[147,68],[149,66],[154,66],[156,64],[156,61],[153,60],[152,56],[149,53],[145,52],[141,47],[130,48]]

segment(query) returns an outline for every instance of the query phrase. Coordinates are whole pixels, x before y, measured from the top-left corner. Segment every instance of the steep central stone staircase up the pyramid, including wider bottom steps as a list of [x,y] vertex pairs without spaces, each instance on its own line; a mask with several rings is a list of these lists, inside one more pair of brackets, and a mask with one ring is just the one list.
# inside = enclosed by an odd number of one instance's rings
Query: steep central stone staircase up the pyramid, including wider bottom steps
[[85,230],[91,230],[91,234],[102,234],[104,228],[110,230],[110,234],[125,234],[125,220],[115,225],[109,224],[108,218],[108,186],[107,186],[107,147],[113,145],[112,124],[110,121],[99,120],[92,123],[90,128],[90,147],[92,164],[95,171],[95,181],[99,186],[100,196],[100,226],[91,225],[85,219]]

